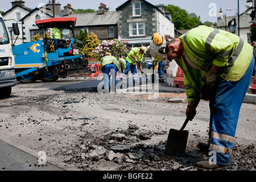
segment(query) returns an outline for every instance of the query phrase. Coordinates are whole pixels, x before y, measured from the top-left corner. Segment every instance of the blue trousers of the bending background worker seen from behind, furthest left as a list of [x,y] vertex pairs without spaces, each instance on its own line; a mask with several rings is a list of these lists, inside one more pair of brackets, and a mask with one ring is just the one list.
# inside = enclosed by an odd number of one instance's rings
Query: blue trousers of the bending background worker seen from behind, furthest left
[[[117,67],[115,67],[115,65],[113,63],[107,64],[104,67],[102,67],[101,71],[104,76],[104,89],[115,91],[115,86],[117,86],[117,79],[116,79]],[[112,84],[110,84],[109,73],[111,73],[111,75],[112,75]]]

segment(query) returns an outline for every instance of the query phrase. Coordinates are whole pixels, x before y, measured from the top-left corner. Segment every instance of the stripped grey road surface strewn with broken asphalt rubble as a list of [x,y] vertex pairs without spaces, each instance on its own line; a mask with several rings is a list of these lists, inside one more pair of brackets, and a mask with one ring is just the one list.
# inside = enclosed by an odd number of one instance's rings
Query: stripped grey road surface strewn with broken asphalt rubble
[[[157,100],[148,100],[147,94],[71,92],[61,89],[65,85],[72,88],[74,82],[15,86],[10,98],[0,100],[0,135],[82,171],[196,171],[195,163],[208,159],[196,147],[208,140],[207,101],[200,102],[185,129],[186,156],[164,156],[168,131],[184,122],[184,93],[161,92]],[[241,108],[232,165],[226,171],[256,169],[253,111],[255,105]]]

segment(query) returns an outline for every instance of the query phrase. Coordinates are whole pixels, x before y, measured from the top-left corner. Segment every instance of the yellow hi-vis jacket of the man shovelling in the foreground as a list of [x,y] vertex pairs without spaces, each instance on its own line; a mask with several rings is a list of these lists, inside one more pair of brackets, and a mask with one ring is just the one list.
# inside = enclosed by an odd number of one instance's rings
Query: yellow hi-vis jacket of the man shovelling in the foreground
[[175,61],[184,72],[188,101],[196,100],[204,85],[201,78],[213,64],[221,67],[221,78],[236,82],[245,74],[253,57],[253,47],[249,43],[237,35],[216,28],[199,26],[181,35],[180,39],[185,54]]

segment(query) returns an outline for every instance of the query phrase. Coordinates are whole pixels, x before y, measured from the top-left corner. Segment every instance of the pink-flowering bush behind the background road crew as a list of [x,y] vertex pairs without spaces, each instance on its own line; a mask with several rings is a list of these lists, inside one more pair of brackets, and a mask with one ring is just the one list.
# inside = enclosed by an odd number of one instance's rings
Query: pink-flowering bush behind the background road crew
[[103,40],[101,44],[96,47],[94,51],[94,58],[101,60],[106,52],[110,52],[112,56],[125,59],[129,51],[124,44],[119,42],[117,39]]

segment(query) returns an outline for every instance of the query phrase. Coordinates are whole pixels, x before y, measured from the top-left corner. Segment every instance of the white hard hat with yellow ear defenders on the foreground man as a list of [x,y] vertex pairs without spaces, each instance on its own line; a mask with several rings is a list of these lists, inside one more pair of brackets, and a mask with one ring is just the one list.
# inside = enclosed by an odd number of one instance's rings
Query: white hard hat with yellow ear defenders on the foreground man
[[171,42],[171,36],[168,41],[166,41],[166,38],[164,35],[161,35],[159,33],[155,33],[152,36],[152,41],[150,43],[150,54],[154,59],[159,61],[166,61],[167,60],[167,52],[166,52],[166,46],[168,46],[168,43]]

